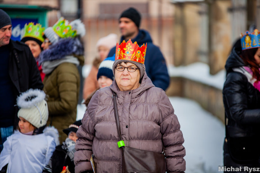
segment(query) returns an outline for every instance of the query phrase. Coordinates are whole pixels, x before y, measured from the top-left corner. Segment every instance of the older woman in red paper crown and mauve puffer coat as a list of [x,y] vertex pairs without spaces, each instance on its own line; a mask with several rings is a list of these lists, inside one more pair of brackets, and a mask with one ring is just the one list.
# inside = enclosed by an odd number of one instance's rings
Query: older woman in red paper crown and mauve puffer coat
[[[117,44],[113,64],[115,79],[96,91],[77,131],[75,172],[91,172],[90,158],[98,173],[122,172],[112,93],[125,146],[161,153],[164,148],[167,172],[185,171],[183,135],[174,109],[165,92],[152,84],[145,72],[146,46],[129,40]],[[155,64],[156,65],[156,64]]]

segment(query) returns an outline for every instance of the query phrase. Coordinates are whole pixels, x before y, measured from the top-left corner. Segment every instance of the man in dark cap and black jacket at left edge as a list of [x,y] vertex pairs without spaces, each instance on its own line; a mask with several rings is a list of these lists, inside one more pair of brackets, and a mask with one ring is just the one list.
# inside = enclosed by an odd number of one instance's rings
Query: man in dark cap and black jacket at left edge
[[12,23],[0,9],[0,152],[18,123],[16,98],[30,88],[42,89],[41,76],[30,48],[11,40]]

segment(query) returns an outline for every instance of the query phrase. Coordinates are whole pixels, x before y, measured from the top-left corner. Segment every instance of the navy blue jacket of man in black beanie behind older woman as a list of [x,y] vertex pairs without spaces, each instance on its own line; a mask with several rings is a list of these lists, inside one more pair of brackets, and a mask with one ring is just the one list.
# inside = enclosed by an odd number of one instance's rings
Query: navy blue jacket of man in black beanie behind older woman
[[[121,37],[121,42],[124,38]],[[145,68],[147,76],[152,80],[152,83],[163,90],[166,90],[169,86],[170,77],[167,71],[165,59],[160,49],[152,43],[152,38],[148,31],[140,29],[136,38],[131,39],[132,42],[137,42],[139,46],[147,43],[146,56],[145,56]],[[126,42],[128,40],[125,40]],[[115,54],[116,47],[112,48],[108,54],[111,57]]]

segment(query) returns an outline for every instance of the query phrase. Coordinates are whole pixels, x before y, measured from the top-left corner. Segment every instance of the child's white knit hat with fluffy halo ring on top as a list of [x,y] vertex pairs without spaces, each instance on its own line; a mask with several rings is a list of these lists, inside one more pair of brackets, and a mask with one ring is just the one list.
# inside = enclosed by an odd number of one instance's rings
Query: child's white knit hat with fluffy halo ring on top
[[36,128],[46,125],[49,111],[45,99],[44,91],[39,89],[29,89],[17,97],[18,118],[22,117]]

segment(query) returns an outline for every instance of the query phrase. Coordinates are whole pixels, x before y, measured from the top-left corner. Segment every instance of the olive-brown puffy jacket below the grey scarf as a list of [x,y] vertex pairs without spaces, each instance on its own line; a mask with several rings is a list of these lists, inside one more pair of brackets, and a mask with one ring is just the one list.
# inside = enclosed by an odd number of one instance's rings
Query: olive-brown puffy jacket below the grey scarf
[[[78,57],[82,61],[84,57]],[[84,60],[84,59],[83,59]],[[80,90],[80,75],[73,63],[62,63],[43,80],[43,90],[48,95],[49,119],[47,125],[58,129],[60,142],[67,137],[62,132],[76,121]]]

